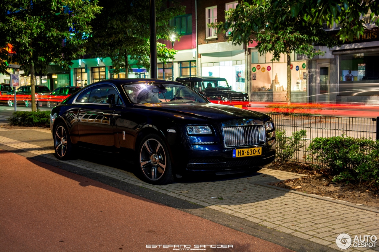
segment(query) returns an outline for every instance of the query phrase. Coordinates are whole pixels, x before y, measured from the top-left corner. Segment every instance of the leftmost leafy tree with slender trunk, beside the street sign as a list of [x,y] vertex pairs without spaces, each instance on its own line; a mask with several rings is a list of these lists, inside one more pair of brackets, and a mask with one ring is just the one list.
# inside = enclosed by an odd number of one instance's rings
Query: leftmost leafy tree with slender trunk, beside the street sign
[[84,55],[89,22],[100,10],[97,0],[2,0],[0,31],[16,49],[13,62],[30,73],[32,111],[35,71],[46,73],[49,64],[70,67]]

